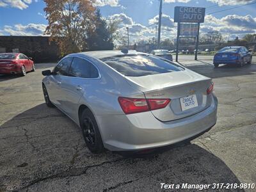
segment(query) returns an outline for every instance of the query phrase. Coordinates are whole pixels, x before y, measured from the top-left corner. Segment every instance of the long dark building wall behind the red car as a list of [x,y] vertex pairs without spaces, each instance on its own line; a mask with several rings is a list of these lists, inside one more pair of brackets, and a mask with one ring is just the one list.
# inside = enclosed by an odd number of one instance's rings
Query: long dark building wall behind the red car
[[49,36],[0,36],[0,52],[22,52],[36,63],[57,61],[58,45]]

